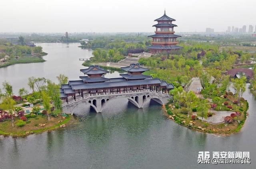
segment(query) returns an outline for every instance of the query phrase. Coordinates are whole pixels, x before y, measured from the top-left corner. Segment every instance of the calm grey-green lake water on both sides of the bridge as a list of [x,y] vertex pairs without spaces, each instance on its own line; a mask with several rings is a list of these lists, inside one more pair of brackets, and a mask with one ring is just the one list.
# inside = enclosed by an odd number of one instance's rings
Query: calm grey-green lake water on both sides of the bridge
[[[78,44],[69,44],[68,49],[64,47],[68,44],[40,45],[48,53],[47,62],[54,63],[30,65],[38,68],[38,71],[44,68],[40,76],[52,79],[60,73],[76,79],[82,68],[78,58],[91,55],[91,51],[75,48]],[[64,54],[63,51],[69,50],[73,52]],[[66,58],[68,62],[59,61],[58,58]],[[52,68],[40,64],[49,64]],[[17,72],[24,73],[24,70]],[[20,79],[22,76],[20,73]],[[11,82],[12,78],[8,79]],[[25,80],[24,83],[20,82],[20,85],[26,85]],[[78,122],[66,128],[25,138],[0,136],[0,169],[255,169],[256,100],[248,89],[244,98],[249,102],[250,115],[242,130],[229,137],[206,134],[178,125],[166,119],[161,106],[154,102],[147,102],[143,109],[137,109],[126,99],[110,100],[102,113],[86,109],[76,116]],[[250,151],[252,163],[197,164],[198,151]]]

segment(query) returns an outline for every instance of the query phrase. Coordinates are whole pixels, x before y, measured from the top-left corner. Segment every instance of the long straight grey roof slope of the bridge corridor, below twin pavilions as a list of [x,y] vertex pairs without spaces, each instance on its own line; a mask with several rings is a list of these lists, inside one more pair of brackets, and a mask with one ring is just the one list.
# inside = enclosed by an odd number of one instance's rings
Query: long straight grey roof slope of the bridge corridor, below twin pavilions
[[[160,79],[148,79],[148,80],[130,80],[124,82],[103,82],[94,84],[81,84],[72,85],[72,89],[100,89],[100,88],[110,88],[110,87],[126,87],[134,85],[150,85],[150,84],[161,84]],[[65,91],[65,89],[64,89]]]

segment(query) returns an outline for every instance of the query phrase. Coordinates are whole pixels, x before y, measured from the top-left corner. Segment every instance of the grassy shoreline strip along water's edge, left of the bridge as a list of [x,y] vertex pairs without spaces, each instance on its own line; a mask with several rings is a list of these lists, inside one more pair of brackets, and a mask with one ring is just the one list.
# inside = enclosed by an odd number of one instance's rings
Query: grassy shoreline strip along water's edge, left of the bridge
[[50,126],[50,127],[38,128],[36,130],[20,131],[20,132],[5,132],[0,129],[0,135],[3,135],[4,137],[7,137],[7,136],[26,137],[26,136],[32,135],[32,134],[41,134],[45,131],[54,131],[56,129],[61,128],[60,125],[70,125],[70,124],[74,123],[75,121],[76,121],[76,119],[72,115],[69,115],[62,122],[56,123],[55,125]]

